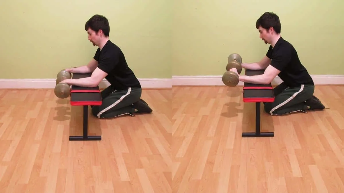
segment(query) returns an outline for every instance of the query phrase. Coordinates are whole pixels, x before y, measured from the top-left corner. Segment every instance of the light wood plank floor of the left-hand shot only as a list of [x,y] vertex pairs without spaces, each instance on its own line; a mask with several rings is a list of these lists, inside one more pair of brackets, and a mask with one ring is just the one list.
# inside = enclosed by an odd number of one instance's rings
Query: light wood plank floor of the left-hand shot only
[[0,91],[1,193],[171,192],[171,97],[144,90],[154,112],[98,120],[82,135],[82,106],[54,91]]

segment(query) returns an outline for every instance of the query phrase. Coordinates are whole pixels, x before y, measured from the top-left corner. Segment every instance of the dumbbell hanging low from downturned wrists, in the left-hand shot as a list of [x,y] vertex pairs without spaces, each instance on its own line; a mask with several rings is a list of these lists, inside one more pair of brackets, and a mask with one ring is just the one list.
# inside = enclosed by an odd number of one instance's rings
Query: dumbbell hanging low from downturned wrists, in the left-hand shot
[[65,99],[71,94],[71,87],[67,83],[60,83],[62,80],[71,79],[72,74],[61,70],[56,76],[56,86],[54,89],[55,95],[60,99]]

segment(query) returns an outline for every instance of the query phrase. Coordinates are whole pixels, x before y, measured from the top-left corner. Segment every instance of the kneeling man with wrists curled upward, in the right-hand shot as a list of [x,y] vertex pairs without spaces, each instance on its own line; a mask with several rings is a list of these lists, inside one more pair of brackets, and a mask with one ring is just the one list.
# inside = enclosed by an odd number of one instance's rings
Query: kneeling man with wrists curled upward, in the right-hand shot
[[[245,69],[265,69],[263,75],[240,76],[239,80],[255,84],[269,84],[278,75],[283,81],[273,89],[275,102],[264,103],[264,110],[271,115],[324,109],[320,100],[313,96],[314,82],[301,64],[295,48],[281,33],[281,23],[275,13],[265,12],[256,22],[260,38],[270,44],[264,58],[257,63],[243,63]],[[237,73],[236,68],[231,69]]]

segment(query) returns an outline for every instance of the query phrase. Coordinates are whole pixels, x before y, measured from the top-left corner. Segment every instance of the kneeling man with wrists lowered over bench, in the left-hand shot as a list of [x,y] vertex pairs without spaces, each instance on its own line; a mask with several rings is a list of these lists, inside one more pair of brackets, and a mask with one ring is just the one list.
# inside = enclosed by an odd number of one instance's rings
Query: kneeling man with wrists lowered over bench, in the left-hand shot
[[98,49],[93,59],[85,66],[68,68],[73,73],[90,73],[88,78],[66,79],[62,82],[82,87],[96,87],[104,78],[111,84],[101,91],[103,104],[91,106],[92,114],[98,118],[112,118],[136,113],[151,113],[152,110],[141,97],[141,84],[128,67],[121,49],[109,40],[109,22],[102,15],[92,16],[85,24],[88,40]]

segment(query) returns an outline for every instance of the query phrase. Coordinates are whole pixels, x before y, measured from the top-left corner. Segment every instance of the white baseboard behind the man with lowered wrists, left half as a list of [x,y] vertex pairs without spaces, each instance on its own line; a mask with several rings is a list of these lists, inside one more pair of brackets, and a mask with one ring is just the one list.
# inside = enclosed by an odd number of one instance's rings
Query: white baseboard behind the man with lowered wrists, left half
[[[0,89],[54,89],[56,79],[0,79]],[[171,79],[141,78],[141,87],[144,88],[172,88]],[[108,87],[108,81],[99,84],[100,89]]]

